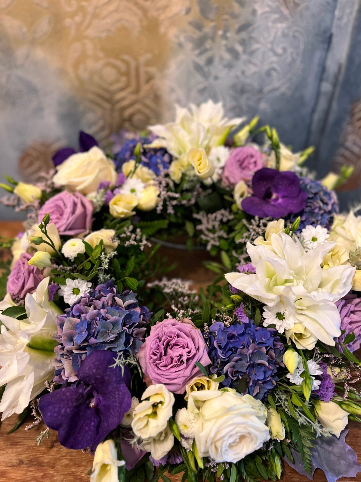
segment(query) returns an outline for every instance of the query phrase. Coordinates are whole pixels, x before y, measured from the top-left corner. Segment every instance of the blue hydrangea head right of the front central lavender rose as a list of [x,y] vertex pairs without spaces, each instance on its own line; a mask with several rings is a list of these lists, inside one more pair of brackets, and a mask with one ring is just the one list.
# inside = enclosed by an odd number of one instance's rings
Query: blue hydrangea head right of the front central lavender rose
[[208,356],[212,361],[211,373],[225,375],[222,385],[237,388],[246,375],[249,393],[264,400],[278,381],[277,369],[284,366],[284,345],[276,330],[248,323],[225,326],[221,321],[209,327]]

